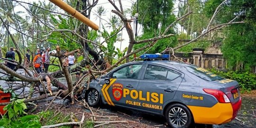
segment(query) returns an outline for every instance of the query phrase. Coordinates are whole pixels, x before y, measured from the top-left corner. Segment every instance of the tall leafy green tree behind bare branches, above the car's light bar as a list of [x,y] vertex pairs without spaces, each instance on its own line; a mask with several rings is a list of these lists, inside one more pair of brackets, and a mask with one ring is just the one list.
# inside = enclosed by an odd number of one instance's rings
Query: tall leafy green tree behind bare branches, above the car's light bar
[[[152,38],[162,33],[168,25],[175,20],[173,14],[174,3],[173,0],[138,0],[138,22],[142,25],[143,34],[137,39]],[[133,6],[133,14],[136,12],[137,4]],[[168,31],[167,34],[175,33],[174,29]],[[174,46],[177,43],[176,37],[170,37],[163,40],[159,40],[155,46],[153,46],[147,53],[160,53],[167,46]],[[134,49],[138,49],[147,44],[137,44]],[[128,49],[129,50],[129,49]],[[144,51],[140,51],[139,54],[143,54]]]

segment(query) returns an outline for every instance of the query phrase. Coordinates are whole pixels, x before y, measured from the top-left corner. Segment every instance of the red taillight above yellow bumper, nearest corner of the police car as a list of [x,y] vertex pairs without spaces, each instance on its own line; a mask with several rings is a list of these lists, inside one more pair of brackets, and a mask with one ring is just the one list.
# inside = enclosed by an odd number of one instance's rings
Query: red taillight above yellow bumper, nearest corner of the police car
[[205,91],[208,94],[213,95],[220,103],[230,103],[228,96],[220,90],[203,89],[203,91]]

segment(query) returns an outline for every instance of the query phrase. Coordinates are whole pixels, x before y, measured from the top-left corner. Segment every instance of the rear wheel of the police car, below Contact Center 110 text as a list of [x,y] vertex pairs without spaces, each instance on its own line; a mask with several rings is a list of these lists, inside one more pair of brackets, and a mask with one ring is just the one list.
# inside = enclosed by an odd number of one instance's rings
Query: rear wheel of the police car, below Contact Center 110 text
[[172,104],[165,111],[165,119],[172,128],[189,128],[192,124],[190,110],[182,104]]

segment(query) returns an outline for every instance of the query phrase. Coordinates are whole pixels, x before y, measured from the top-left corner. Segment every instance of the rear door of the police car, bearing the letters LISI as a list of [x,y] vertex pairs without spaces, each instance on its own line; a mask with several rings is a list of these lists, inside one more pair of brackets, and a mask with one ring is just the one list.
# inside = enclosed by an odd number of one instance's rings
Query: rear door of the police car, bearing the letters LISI
[[147,64],[137,86],[137,91],[141,91],[137,99],[141,102],[139,108],[160,113],[164,103],[174,98],[182,79],[182,73],[171,68]]

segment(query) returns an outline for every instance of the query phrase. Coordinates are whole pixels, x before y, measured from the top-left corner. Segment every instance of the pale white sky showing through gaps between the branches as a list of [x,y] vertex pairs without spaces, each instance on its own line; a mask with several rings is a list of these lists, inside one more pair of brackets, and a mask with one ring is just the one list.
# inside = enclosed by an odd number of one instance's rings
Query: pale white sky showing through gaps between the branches
[[[37,2],[37,1],[39,1],[39,0],[20,0],[20,1],[33,3],[33,2]],[[42,2],[43,2],[43,1],[46,1],[46,3],[50,2],[49,0],[40,0],[40,1],[42,1]],[[130,9],[131,6],[132,6],[132,4],[133,4],[136,0],[121,0],[121,1],[122,1],[123,9],[126,10],[126,9]],[[119,7],[119,2],[118,2],[118,0],[115,0],[115,3],[116,3],[116,4],[118,5],[118,7]],[[23,5],[25,5],[25,6],[28,7],[27,4],[23,4]],[[177,6],[177,4],[175,4],[175,5]],[[116,15],[116,14],[114,14],[114,13],[111,12],[111,10],[114,9],[114,7],[109,3],[108,0],[99,0],[98,4],[92,9],[92,11],[91,11],[91,18],[90,18],[91,21],[94,22],[95,24],[97,24],[98,26],[99,26],[99,20],[100,20],[100,18],[97,18],[97,16],[96,16],[95,14],[97,14],[97,13],[96,13],[96,10],[97,10],[97,7],[99,7],[99,6],[103,6],[103,7],[106,9],[106,14],[102,16],[102,19],[105,19],[106,21],[109,21],[109,19],[110,19],[111,16]],[[59,8],[59,7],[57,7],[57,8]],[[175,7],[174,7],[174,8],[175,8]],[[21,6],[17,6],[14,10],[15,10],[15,11],[24,11],[24,12],[26,12],[26,9],[24,9],[24,8],[21,7]],[[62,11],[62,12],[64,12],[64,10],[62,10],[62,9],[60,9],[60,8],[59,8],[59,10]],[[24,13],[24,14],[22,14],[21,16],[25,18],[26,15],[28,15],[28,14],[27,14],[27,13]],[[128,15],[127,18],[130,18],[130,16]],[[102,22],[101,24],[107,26],[107,22],[106,22],[105,20],[101,20],[101,22]],[[133,30],[135,30],[135,24],[134,24],[134,22],[131,22],[131,27],[133,27]],[[137,27],[137,28],[138,28],[138,35],[141,35],[141,34],[142,34],[142,27],[138,24],[138,27]],[[108,27],[106,27],[106,29],[107,29],[109,32],[111,31]],[[15,30],[12,30],[12,31],[15,31]],[[102,28],[101,28],[101,31],[102,31]],[[120,32],[120,33],[121,33],[121,32]],[[135,32],[134,32],[134,33],[135,33]],[[129,42],[129,38],[128,38],[128,34],[127,34],[127,31],[126,31],[125,28],[123,29],[123,32],[122,32],[122,38],[123,38],[124,40],[123,40],[122,42],[117,41],[114,46],[115,46],[116,48],[119,48],[119,49],[121,49],[121,50],[124,50],[124,49],[125,49],[126,47],[128,47],[128,45],[129,45],[129,43],[128,43],[128,42]],[[103,40],[104,40],[104,39],[101,38],[101,42],[102,42]],[[106,44],[103,44],[103,45],[106,45]]]

